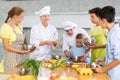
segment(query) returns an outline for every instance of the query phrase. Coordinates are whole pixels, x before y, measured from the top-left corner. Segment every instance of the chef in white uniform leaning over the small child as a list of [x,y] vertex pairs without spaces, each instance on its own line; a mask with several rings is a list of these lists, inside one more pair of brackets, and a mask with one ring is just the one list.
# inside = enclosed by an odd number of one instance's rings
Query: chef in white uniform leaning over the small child
[[78,27],[75,23],[71,21],[66,21],[63,23],[65,33],[63,33],[63,52],[67,57],[71,56],[70,48],[76,45],[75,37],[78,33],[82,33],[86,38],[90,40],[88,33]]

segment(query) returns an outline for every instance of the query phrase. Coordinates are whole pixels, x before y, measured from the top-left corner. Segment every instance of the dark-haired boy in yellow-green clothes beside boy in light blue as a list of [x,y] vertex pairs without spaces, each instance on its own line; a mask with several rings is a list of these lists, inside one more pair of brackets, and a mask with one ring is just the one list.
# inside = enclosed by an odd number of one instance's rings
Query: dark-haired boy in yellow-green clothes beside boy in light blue
[[100,26],[100,18],[99,18],[99,11],[101,8],[96,7],[91,10],[89,10],[89,14],[91,17],[91,21],[93,24],[95,24],[90,29],[90,36],[95,38],[96,43],[92,46],[88,46],[89,48],[92,48],[92,54],[91,54],[91,61],[95,62],[97,58],[104,58],[106,53],[106,35],[107,35],[107,29],[103,29]]

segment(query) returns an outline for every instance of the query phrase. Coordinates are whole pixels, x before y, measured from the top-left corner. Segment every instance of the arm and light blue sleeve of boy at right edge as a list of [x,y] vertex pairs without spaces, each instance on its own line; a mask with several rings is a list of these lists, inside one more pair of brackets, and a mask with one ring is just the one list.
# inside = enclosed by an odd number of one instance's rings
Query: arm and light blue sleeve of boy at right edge
[[[108,70],[110,70],[110,69],[112,69],[120,64],[120,45],[119,45],[120,44],[120,36],[119,36],[119,32],[118,32],[118,34],[116,32],[115,35],[110,38],[108,43],[111,43],[111,47],[110,46],[109,47],[114,51],[111,55],[113,57],[113,61],[111,61],[109,64],[107,64],[104,67],[96,69],[96,71],[100,72],[100,73],[106,72],[106,71],[108,71]],[[111,53],[111,50],[110,50],[110,53]],[[110,53],[108,53],[108,54],[110,54]]]

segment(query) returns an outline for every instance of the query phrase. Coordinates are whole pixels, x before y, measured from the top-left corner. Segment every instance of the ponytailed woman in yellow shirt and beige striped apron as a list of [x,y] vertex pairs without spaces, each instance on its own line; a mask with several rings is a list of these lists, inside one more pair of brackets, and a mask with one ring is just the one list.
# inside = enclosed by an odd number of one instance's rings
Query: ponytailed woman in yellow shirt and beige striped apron
[[23,50],[23,30],[20,25],[24,17],[24,10],[13,7],[8,12],[7,19],[0,29],[2,44],[5,49],[4,69],[5,71],[22,63],[23,54],[30,53]]

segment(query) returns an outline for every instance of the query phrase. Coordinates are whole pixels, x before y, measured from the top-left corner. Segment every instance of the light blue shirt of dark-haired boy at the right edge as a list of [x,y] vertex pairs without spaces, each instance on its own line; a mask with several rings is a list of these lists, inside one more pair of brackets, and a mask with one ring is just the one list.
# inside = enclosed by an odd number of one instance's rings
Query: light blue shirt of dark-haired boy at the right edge
[[[115,59],[120,60],[120,26],[118,23],[108,32],[106,46],[106,64]],[[120,64],[108,70],[111,80],[120,80]]]

